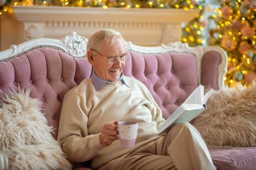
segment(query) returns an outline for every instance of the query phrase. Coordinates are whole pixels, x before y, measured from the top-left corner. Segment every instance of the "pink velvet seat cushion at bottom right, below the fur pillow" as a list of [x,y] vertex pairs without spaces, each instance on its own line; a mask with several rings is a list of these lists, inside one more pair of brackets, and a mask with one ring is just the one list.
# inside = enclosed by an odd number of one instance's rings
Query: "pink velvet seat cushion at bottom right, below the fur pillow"
[[217,170],[255,170],[255,147],[207,147]]

